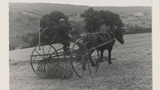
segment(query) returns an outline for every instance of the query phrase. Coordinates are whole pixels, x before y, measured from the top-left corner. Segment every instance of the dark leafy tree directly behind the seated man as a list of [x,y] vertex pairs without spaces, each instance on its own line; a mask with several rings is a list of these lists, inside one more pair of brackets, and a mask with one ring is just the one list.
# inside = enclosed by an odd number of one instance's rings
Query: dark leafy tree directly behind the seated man
[[[61,18],[66,20],[66,24],[68,25],[69,30],[71,30],[68,17],[60,11],[53,11],[52,13],[46,14],[42,17],[40,20],[41,43],[49,43],[52,40],[55,26],[58,25],[58,21]],[[38,44],[38,35],[35,35],[30,44],[31,46]]]

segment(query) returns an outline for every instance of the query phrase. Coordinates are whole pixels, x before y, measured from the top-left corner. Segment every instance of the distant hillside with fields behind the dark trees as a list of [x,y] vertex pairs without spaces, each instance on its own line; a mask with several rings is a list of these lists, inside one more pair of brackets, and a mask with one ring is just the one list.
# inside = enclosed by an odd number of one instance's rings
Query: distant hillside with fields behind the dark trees
[[[84,21],[80,14],[89,6],[50,4],[50,3],[9,3],[9,37],[25,36],[38,32],[38,20],[53,11],[61,11],[69,17],[73,26],[83,29]],[[151,7],[93,7],[95,10],[108,10],[121,16],[126,26],[151,27]],[[13,40],[13,39],[12,39]],[[13,41],[14,42],[14,41]],[[11,43],[11,42],[10,42]]]

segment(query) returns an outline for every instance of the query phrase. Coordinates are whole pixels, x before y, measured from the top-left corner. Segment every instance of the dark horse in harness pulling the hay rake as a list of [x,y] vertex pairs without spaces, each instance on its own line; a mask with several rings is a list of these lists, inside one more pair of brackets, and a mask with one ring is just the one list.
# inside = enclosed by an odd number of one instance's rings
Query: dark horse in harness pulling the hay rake
[[[111,52],[116,40],[119,41],[121,44],[124,44],[123,34],[120,30],[109,30],[108,32],[103,33],[90,33],[84,38],[84,42],[87,42],[87,49],[96,47],[96,49],[100,51],[99,62],[103,62],[103,53],[105,50],[108,50],[108,64],[112,64]],[[91,50],[90,55],[93,52],[94,50]],[[92,59],[90,59],[90,61],[92,66],[96,66],[98,64],[95,64]]]

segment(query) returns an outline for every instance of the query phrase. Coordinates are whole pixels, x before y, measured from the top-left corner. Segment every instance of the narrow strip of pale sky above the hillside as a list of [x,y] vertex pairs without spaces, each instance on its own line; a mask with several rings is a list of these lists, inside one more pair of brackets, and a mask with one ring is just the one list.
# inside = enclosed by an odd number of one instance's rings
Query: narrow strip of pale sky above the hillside
[[87,6],[152,6],[152,0],[9,0],[18,3],[58,3]]

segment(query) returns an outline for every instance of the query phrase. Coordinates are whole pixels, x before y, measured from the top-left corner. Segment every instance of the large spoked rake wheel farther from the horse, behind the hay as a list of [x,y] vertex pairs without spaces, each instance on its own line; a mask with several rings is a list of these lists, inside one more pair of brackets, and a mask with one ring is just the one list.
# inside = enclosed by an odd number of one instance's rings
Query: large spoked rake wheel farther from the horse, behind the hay
[[59,56],[57,50],[51,44],[37,45],[31,54],[31,67],[40,77],[46,77],[47,69],[51,64],[57,64]]

